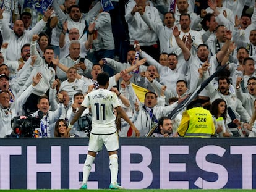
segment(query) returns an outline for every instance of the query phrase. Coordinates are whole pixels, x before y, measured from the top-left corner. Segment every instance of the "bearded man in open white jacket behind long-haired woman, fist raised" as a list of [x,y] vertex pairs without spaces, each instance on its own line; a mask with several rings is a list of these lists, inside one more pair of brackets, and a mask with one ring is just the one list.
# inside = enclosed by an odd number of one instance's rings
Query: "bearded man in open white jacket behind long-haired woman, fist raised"
[[[203,81],[207,80],[209,73],[207,68],[210,64],[205,62],[202,65],[203,67]],[[218,78],[218,89],[215,89],[213,82],[211,81],[207,86],[206,90],[208,96],[210,97],[210,102],[215,101],[215,99],[221,98],[226,101],[228,107],[228,117],[226,123],[233,133],[233,136],[239,136],[239,131],[237,125],[234,123],[237,120],[239,122],[250,122],[250,115],[247,110],[242,106],[242,102],[237,98],[236,94],[233,94],[229,91],[230,81],[228,77],[219,77]]]

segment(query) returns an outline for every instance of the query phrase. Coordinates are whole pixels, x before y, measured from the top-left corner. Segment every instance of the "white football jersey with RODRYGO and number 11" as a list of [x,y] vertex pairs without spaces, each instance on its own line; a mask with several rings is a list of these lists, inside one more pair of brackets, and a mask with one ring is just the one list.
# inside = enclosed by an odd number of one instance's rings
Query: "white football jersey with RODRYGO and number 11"
[[116,93],[98,89],[88,93],[82,102],[83,107],[91,107],[93,134],[116,132],[116,115],[113,109],[120,106]]

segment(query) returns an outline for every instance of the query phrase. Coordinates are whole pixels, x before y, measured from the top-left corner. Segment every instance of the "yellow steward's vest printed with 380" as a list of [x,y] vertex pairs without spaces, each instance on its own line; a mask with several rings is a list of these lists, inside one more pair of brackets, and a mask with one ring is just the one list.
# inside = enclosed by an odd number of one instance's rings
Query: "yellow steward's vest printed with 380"
[[187,110],[189,114],[189,127],[184,137],[211,137],[215,133],[213,117],[207,109],[194,107]]

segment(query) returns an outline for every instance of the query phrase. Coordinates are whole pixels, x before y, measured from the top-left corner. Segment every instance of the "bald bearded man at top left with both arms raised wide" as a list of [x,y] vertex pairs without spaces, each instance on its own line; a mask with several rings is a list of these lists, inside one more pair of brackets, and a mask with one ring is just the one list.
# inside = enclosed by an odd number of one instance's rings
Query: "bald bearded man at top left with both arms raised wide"
[[32,36],[35,33],[40,33],[45,27],[47,20],[51,16],[53,9],[49,8],[46,10],[43,19],[36,23],[32,30],[25,30],[24,23],[22,20],[16,20],[14,22],[14,28],[11,30],[9,28],[9,23],[5,22],[3,19],[4,9],[0,9],[0,30],[2,33],[3,42],[8,42],[8,48],[6,49],[6,59],[7,60],[18,60],[19,52],[23,44],[30,43]]

